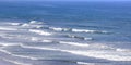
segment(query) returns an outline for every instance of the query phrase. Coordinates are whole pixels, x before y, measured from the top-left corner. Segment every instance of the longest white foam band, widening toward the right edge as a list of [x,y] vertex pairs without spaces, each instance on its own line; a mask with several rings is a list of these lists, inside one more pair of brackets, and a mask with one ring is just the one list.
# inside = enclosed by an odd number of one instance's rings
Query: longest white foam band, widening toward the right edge
[[87,51],[76,51],[76,50],[62,50],[62,49],[53,49],[53,48],[43,48],[43,47],[29,47],[29,46],[21,46],[23,48],[32,48],[32,49],[40,49],[40,50],[55,50],[61,52],[68,52],[76,55],[91,56],[96,58],[105,58],[110,61],[131,61],[130,55],[119,55],[115,51],[102,51],[102,50],[87,50]]

